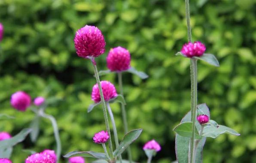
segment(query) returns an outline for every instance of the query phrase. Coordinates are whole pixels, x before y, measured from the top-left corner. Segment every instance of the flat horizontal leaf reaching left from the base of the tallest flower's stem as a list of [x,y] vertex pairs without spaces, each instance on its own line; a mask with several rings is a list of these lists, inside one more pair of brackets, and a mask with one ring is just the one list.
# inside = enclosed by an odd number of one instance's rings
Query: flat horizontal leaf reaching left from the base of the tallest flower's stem
[[93,158],[104,159],[104,160],[109,159],[109,158],[106,156],[106,154],[104,154],[104,153],[98,153],[98,152],[94,152],[94,151],[84,151],[84,152],[72,151],[72,152],[70,152],[70,153],[64,155],[63,157],[70,158],[70,157],[75,157],[75,156],[93,157]]

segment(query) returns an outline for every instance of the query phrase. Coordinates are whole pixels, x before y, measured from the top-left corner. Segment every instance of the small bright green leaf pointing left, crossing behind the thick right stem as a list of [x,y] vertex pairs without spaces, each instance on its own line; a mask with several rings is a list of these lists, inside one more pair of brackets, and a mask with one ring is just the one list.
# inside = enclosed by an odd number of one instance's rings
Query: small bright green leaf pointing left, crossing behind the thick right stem
[[[192,122],[184,122],[174,128],[174,131],[180,136],[191,138],[192,137]],[[195,130],[195,139],[201,139],[198,130]]]

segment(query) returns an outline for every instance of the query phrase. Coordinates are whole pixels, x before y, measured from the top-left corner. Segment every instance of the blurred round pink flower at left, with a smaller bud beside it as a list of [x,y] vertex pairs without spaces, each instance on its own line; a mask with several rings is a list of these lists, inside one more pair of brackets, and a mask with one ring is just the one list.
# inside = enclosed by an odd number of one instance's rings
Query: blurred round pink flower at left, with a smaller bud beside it
[[23,91],[18,91],[12,94],[11,105],[13,108],[24,112],[31,104],[31,98]]

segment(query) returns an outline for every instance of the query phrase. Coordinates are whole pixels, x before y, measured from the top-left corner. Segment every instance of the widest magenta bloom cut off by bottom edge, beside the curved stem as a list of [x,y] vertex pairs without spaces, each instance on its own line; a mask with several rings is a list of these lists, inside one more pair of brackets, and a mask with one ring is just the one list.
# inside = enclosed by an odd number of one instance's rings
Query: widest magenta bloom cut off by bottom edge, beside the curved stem
[[49,154],[45,153],[36,153],[32,154],[25,160],[25,163],[56,163],[54,158]]

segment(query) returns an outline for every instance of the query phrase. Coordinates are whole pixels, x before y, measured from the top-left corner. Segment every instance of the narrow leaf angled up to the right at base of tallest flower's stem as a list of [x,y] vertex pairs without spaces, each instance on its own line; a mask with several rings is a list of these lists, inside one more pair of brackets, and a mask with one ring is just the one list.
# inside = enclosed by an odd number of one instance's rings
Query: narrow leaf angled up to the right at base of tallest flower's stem
[[124,139],[120,142],[119,146],[114,151],[114,157],[119,157],[132,142],[134,142],[142,132],[142,129],[131,130],[125,134]]

